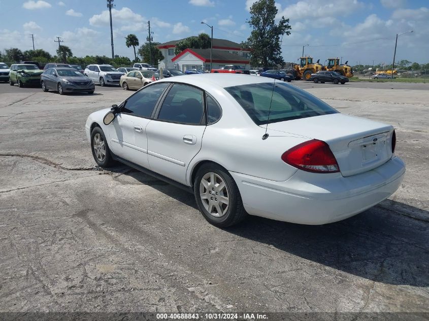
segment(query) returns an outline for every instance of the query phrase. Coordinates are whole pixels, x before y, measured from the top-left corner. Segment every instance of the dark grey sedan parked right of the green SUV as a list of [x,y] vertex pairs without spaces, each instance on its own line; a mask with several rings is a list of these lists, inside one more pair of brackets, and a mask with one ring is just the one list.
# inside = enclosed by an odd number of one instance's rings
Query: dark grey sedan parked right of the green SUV
[[55,90],[60,95],[82,91],[93,94],[95,90],[94,82],[75,68],[49,68],[42,74],[40,83],[44,92]]

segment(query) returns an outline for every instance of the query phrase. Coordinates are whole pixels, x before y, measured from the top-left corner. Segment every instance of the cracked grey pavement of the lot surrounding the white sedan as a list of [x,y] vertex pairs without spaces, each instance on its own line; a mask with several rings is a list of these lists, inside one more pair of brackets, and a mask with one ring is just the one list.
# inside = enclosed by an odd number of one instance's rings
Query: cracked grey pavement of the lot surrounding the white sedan
[[131,92],[0,84],[0,311],[429,312],[429,84],[293,84],[395,126],[397,193],[334,224],[218,229],[192,195],[95,166],[86,118]]

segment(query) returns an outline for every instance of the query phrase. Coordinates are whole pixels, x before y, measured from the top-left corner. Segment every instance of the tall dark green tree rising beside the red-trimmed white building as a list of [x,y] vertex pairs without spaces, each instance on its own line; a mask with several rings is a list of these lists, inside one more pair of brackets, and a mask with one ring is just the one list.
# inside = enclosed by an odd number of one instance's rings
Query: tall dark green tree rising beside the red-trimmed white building
[[291,29],[289,19],[283,16],[278,24],[274,19],[277,15],[274,0],[258,0],[250,8],[250,20],[246,22],[253,28],[250,37],[242,43],[242,48],[250,48],[252,65],[269,66],[283,64],[281,56],[280,35],[289,35]]

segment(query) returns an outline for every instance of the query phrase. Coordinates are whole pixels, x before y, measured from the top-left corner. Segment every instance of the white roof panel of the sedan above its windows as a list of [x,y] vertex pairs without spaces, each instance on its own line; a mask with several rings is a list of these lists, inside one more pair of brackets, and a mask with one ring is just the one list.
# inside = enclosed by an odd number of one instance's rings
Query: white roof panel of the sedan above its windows
[[[257,79],[255,79],[257,78]],[[194,74],[186,76],[177,76],[171,78],[160,79],[156,82],[177,82],[189,84],[200,88],[226,88],[232,86],[259,84],[259,83],[272,83],[273,79],[267,77],[249,77],[248,75],[240,74]]]

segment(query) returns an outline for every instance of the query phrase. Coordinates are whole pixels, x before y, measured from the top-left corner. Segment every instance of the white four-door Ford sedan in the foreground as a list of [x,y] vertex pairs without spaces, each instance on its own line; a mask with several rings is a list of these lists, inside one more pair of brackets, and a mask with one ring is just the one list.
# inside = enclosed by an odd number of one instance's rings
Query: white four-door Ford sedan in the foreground
[[191,191],[219,227],[247,214],[340,221],[389,197],[405,173],[391,125],[266,77],[163,79],[89,115],[86,134],[98,165],[120,161]]

